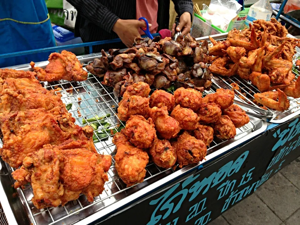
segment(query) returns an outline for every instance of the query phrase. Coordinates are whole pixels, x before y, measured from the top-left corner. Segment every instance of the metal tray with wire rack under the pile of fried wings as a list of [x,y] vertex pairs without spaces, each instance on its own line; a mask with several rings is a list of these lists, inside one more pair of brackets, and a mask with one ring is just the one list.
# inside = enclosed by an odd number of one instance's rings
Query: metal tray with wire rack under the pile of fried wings
[[[216,34],[212,35],[211,37],[214,38],[216,41],[223,41],[226,40],[228,35],[227,33],[222,33],[222,34]],[[294,37],[290,34],[288,34],[288,37]],[[210,40],[208,37],[199,37],[196,38],[198,42],[207,40],[208,43],[210,43]],[[294,74],[296,75],[295,78],[299,77],[300,71],[298,67],[295,67],[296,64],[296,58],[300,56],[300,48],[296,47],[297,53],[294,55],[293,58],[293,65],[294,65]],[[225,85],[227,85],[228,88],[232,88],[230,85],[231,83],[236,83],[238,87],[240,88],[239,91],[235,90],[237,96],[242,96],[242,98],[239,97],[240,101],[243,101],[245,103],[251,104],[256,107],[262,106],[261,104],[254,103],[254,97],[253,95],[255,93],[260,93],[258,89],[252,85],[250,81],[246,81],[245,79],[240,78],[238,75],[234,75],[231,77],[225,77],[225,76],[219,76],[219,75],[214,75],[216,78],[220,79]],[[245,100],[243,99],[245,98]],[[267,109],[271,113],[273,113],[273,118],[269,121],[270,123],[284,123],[287,120],[297,116],[300,114],[300,98],[292,98],[292,97],[287,97],[290,101],[290,107],[285,110],[285,111],[277,111],[273,109]]]

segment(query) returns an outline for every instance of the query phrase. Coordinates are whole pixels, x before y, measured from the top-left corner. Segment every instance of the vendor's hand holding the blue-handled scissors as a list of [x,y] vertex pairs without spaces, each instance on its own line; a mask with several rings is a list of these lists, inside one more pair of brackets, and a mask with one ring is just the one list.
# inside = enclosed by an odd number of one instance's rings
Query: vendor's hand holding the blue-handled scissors
[[[130,48],[134,43],[134,38],[141,36],[138,32],[140,27],[146,27],[146,23],[139,20],[118,19],[115,25],[113,25],[113,32],[118,34],[121,41]],[[151,27],[150,23],[149,27]]]

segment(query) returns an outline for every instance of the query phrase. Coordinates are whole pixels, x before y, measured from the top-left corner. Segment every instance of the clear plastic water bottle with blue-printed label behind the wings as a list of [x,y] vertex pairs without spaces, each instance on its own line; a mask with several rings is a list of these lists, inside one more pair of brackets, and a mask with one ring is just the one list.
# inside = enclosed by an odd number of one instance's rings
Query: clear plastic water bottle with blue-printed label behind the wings
[[272,7],[269,0],[259,0],[250,7],[245,21],[245,26],[249,27],[249,23],[252,23],[254,20],[258,19],[269,21],[271,16]]

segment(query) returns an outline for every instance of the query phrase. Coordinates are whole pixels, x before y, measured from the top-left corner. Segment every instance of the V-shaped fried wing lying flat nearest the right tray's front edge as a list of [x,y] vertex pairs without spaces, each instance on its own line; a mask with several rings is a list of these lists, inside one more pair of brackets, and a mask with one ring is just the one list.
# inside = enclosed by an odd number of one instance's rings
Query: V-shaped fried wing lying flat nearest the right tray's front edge
[[[278,111],[287,110],[290,107],[286,94],[280,89],[273,92],[255,93],[254,98],[258,103]],[[278,101],[276,101],[277,98]]]

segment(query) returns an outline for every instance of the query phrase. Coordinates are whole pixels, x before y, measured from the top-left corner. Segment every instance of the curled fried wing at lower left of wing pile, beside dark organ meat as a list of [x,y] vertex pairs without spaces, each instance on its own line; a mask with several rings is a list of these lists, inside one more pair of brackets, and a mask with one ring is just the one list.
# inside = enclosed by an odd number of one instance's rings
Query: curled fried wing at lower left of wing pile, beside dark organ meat
[[229,58],[217,58],[212,64],[208,67],[209,71],[215,74],[222,76],[233,76],[237,73],[239,62],[234,63],[232,68],[227,69],[225,66],[229,63]]

